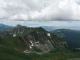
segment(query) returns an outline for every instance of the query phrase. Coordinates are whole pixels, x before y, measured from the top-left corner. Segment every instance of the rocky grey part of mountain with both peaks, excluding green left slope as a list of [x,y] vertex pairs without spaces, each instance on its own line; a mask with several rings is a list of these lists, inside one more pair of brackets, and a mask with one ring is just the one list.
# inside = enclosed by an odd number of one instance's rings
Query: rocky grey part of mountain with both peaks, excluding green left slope
[[[43,28],[27,28],[17,26],[8,31],[9,36],[16,39],[16,43],[23,43],[26,51],[48,52],[54,48],[65,48],[67,43],[64,39],[57,37],[54,33],[45,31]],[[20,40],[20,41],[19,41]],[[22,47],[21,47],[22,48]]]

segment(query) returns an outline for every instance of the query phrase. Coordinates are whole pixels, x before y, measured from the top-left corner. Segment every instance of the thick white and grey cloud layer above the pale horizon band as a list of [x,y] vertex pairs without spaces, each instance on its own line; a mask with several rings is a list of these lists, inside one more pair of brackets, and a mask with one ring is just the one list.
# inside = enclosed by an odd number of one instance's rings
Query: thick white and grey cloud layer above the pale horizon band
[[80,0],[0,0],[1,20],[80,20]]

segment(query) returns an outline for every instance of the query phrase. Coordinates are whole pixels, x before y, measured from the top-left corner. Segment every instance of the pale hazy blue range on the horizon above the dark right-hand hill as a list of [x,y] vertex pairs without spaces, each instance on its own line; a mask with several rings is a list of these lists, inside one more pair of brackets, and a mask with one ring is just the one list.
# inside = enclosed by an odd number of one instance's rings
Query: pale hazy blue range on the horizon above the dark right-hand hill
[[42,28],[44,28],[49,32],[58,30],[58,29],[66,29],[66,30],[70,29],[70,30],[80,31],[79,26],[42,26]]

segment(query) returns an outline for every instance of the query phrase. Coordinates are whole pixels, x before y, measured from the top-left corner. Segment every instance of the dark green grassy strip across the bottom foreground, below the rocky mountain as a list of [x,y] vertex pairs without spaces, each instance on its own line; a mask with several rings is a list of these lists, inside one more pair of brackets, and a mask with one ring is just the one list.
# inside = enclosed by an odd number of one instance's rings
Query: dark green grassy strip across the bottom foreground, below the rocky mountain
[[80,52],[69,50],[55,50],[43,55],[23,54],[12,48],[0,47],[0,60],[66,60],[70,58],[80,58]]

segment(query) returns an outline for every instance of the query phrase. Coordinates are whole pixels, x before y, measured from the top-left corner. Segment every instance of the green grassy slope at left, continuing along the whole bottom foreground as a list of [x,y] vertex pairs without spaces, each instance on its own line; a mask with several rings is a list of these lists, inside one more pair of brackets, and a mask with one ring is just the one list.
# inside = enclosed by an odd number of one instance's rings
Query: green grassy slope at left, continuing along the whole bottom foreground
[[[18,43],[17,43],[18,42]],[[17,49],[21,49],[16,50]],[[24,44],[18,38],[5,37],[0,38],[0,60],[66,60],[69,58],[80,58],[79,51],[59,50],[56,49],[52,52],[38,55],[38,54],[24,54]]]

